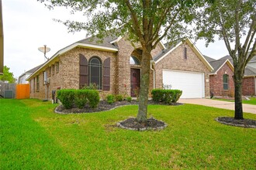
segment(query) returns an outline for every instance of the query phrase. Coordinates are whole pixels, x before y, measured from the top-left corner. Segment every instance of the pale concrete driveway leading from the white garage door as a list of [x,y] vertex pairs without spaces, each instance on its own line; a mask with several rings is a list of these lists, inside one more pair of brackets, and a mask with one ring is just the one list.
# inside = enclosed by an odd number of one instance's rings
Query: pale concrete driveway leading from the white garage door
[[[213,99],[179,99],[178,103],[182,104],[199,104],[202,106],[217,107],[222,109],[234,110],[234,102],[213,100]],[[256,114],[256,105],[243,104],[243,111],[246,113]]]

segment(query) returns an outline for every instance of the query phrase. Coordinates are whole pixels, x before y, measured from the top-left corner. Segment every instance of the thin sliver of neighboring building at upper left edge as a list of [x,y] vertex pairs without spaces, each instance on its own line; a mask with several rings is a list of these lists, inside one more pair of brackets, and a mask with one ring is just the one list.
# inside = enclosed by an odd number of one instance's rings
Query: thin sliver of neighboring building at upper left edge
[[4,31],[2,26],[2,0],[0,0],[0,75],[4,73]]

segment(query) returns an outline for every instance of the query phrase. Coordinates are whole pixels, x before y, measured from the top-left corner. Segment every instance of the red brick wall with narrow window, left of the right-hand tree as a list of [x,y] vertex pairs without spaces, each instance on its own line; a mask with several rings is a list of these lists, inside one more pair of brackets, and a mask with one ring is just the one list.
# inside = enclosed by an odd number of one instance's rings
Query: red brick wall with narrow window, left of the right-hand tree
[[[223,90],[223,75],[227,74],[229,76],[229,90]],[[230,69],[230,66],[225,63],[220,70],[218,70],[216,75],[209,76],[209,89],[216,97],[230,96],[234,97],[234,73]]]

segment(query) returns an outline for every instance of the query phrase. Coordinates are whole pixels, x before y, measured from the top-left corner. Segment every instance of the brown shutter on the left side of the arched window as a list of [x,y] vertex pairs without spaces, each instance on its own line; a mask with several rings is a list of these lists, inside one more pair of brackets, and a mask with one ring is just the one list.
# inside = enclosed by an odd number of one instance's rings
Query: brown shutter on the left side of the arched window
[[79,88],[88,86],[88,61],[84,55],[79,54]]

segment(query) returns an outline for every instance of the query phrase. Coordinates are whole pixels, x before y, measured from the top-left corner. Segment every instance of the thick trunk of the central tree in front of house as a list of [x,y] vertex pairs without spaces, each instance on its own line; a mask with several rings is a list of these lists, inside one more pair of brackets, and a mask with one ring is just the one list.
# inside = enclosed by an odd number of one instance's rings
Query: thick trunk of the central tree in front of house
[[139,96],[139,110],[137,114],[137,121],[147,121],[147,100],[150,83],[150,59],[151,54],[148,51],[143,51],[141,60],[141,79],[140,79],[140,96]]

